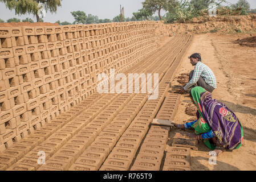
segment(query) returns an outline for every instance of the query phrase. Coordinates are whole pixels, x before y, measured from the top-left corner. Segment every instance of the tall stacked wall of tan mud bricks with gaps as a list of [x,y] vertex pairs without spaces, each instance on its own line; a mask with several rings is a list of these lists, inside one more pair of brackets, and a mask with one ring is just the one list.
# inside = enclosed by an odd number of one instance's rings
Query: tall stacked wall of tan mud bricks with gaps
[[0,149],[95,93],[99,73],[156,49],[155,22],[1,27],[0,39]]

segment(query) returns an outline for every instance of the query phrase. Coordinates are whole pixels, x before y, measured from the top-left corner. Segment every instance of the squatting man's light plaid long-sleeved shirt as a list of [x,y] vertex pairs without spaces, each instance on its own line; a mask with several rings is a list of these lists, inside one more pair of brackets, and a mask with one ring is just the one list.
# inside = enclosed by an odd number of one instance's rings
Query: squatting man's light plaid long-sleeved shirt
[[217,88],[216,77],[212,70],[201,61],[198,61],[198,63],[194,67],[193,77],[188,82],[188,84],[184,86],[184,90],[187,90],[188,88],[196,84],[200,76],[204,79],[206,84],[212,86],[213,88]]

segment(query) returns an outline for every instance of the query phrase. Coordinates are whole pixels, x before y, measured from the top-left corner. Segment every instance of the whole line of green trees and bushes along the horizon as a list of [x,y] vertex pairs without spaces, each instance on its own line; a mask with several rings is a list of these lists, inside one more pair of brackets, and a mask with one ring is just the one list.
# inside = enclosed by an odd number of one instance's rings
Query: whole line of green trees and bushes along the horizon
[[[44,8],[51,13],[56,13],[57,7],[61,6],[60,0],[0,0],[6,3],[6,7],[10,10],[15,10],[15,14],[34,14],[37,22],[43,22],[39,17],[39,12]],[[41,3],[44,6],[38,6]],[[91,23],[109,23],[109,22],[130,22],[141,20],[164,20],[165,23],[185,23],[197,16],[205,16],[209,14],[211,3],[215,3],[217,7],[217,15],[248,15],[256,13],[256,9],[250,9],[250,4],[247,0],[239,0],[235,4],[231,4],[226,0],[145,0],[142,2],[143,8],[133,13],[131,18],[125,18],[124,15],[117,15],[113,19],[99,19],[98,16],[88,14],[84,11],[72,11],[74,22],[60,22],[60,25],[66,24],[91,24]],[[222,3],[227,3],[227,6],[222,6]],[[124,7],[125,8],[125,7]],[[161,16],[161,11],[165,10],[166,14]],[[158,16],[153,16],[157,13]],[[11,18],[7,22],[31,22],[31,18],[18,19]],[[0,19],[0,22],[4,22]]]

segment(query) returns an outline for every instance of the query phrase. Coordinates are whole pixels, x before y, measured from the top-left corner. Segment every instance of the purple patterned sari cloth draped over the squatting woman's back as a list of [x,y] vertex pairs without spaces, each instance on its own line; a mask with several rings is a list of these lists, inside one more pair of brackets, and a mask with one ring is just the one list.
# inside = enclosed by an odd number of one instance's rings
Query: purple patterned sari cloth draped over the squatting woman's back
[[239,148],[243,141],[243,129],[236,115],[225,104],[212,99],[212,94],[200,94],[200,114],[212,128],[217,142],[226,149]]

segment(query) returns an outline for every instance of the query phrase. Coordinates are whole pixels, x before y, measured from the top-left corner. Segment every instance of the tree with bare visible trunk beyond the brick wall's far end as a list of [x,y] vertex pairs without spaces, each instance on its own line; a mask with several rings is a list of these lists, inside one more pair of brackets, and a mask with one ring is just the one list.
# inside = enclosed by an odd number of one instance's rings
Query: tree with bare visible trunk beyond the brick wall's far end
[[143,9],[147,10],[148,12],[151,12],[152,14],[158,11],[160,20],[161,17],[161,10],[166,9],[168,5],[168,0],[145,0],[143,4]]

